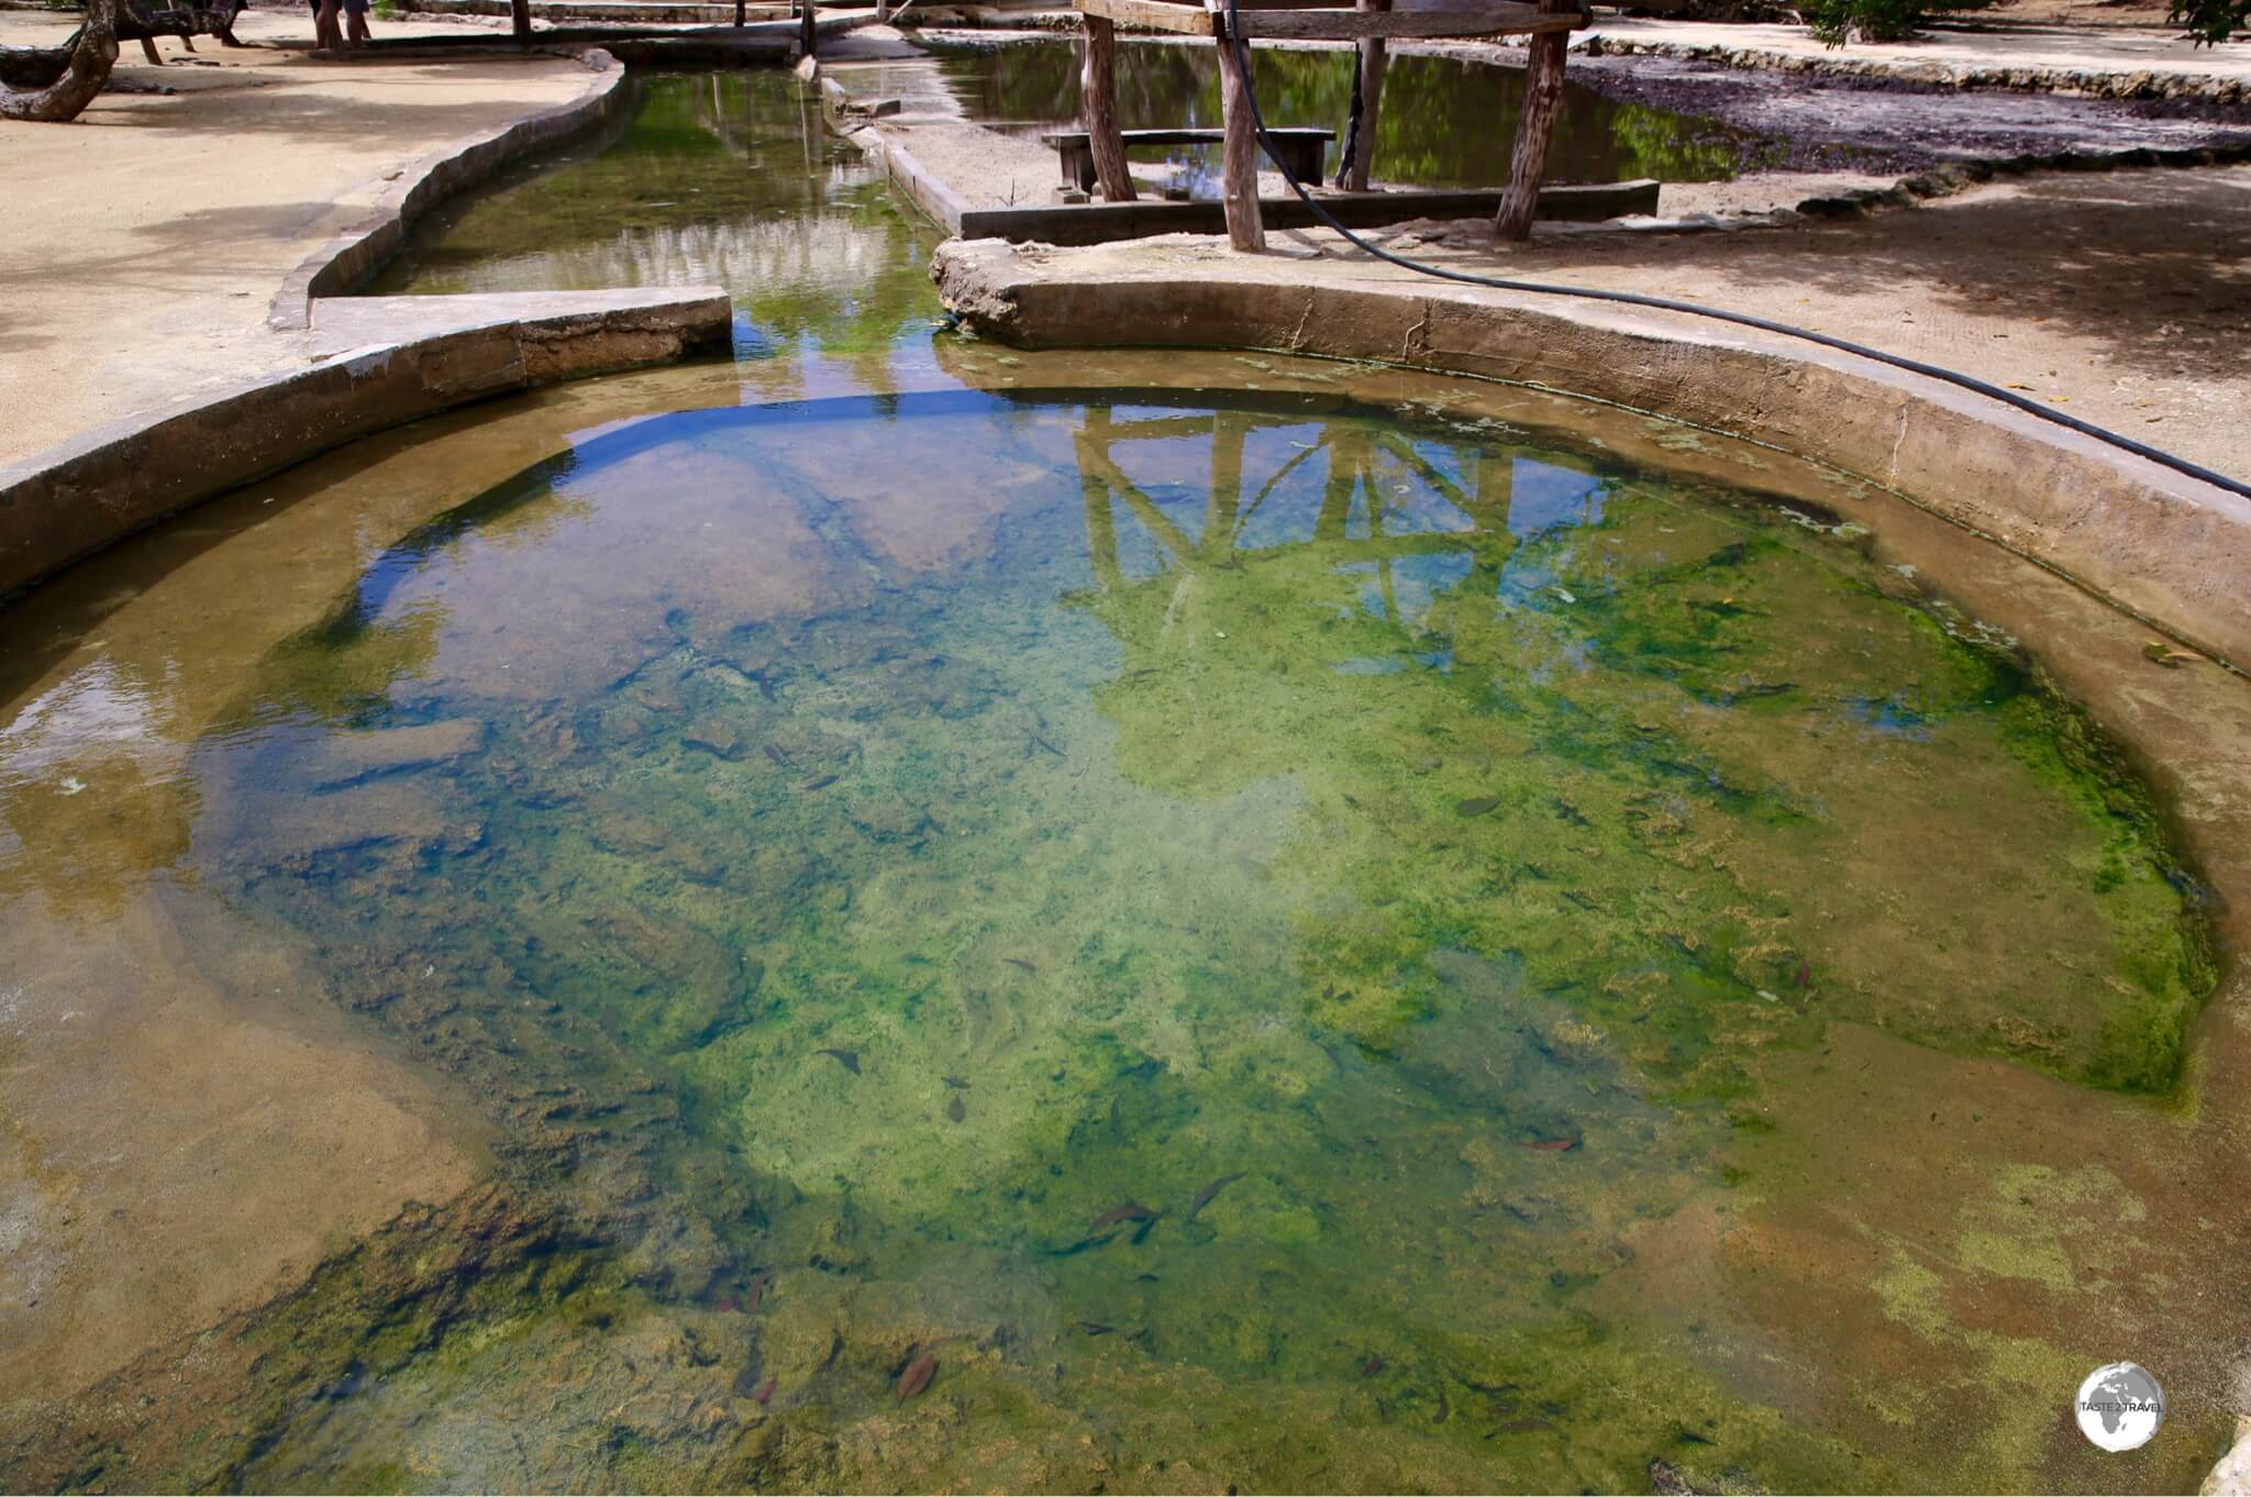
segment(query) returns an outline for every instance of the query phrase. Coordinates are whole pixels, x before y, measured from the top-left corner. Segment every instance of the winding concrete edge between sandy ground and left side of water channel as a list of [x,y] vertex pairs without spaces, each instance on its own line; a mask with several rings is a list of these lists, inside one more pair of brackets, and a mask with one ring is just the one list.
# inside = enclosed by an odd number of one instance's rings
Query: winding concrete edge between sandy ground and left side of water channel
[[360,223],[331,239],[281,281],[266,326],[277,333],[304,331],[313,322],[313,297],[342,295],[365,281],[405,243],[414,221],[437,203],[488,180],[509,162],[594,128],[626,104],[626,65],[601,47],[533,47],[533,54],[581,63],[588,81],[579,97],[443,146],[398,171]]

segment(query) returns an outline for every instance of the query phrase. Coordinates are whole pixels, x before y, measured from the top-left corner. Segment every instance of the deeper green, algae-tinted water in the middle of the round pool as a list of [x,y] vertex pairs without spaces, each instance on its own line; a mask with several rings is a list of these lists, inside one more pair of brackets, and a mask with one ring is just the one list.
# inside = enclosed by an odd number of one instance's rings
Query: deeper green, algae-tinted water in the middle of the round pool
[[[2154,1090],[2210,981],[2132,786],[1895,592],[1832,518],[1317,398],[657,416],[405,536],[198,750],[194,864],[585,1220],[245,1483],[729,1486],[698,1398],[885,1429],[878,1486],[1065,1429],[1837,1483],[1636,1312],[1636,1231],[1830,1024]],[[657,1317],[619,1443],[585,1360]]]

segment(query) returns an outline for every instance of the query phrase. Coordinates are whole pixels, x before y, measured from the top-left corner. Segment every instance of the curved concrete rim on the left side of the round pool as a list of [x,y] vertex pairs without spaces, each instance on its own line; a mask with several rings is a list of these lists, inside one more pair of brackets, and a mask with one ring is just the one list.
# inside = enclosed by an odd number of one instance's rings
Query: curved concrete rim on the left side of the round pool
[[0,468],[0,597],[189,504],[387,425],[669,362],[727,342],[734,326],[734,304],[714,286],[398,302],[428,304],[430,317],[452,326],[342,349],[311,369],[142,412]]

